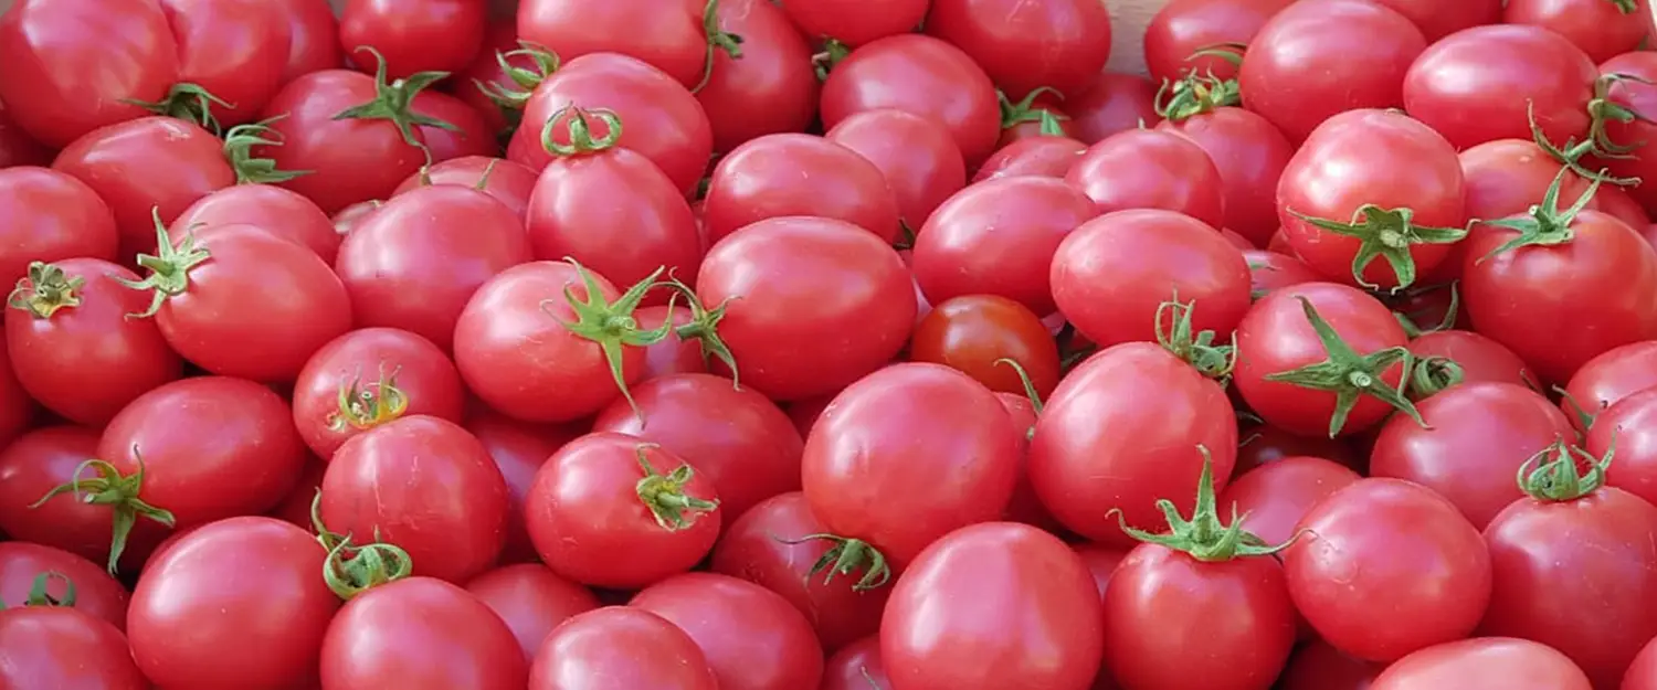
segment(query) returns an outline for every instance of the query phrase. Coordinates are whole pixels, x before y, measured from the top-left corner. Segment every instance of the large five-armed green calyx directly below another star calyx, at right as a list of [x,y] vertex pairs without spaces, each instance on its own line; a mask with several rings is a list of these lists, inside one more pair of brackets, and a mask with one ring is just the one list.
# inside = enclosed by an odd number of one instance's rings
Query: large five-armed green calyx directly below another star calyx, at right
[[[1329,415],[1331,438],[1341,435],[1341,430],[1345,429],[1347,415],[1352,414],[1352,407],[1357,407],[1357,400],[1362,395],[1374,397],[1399,409],[1400,412],[1410,415],[1415,424],[1420,424],[1422,429],[1432,429],[1422,419],[1422,412],[1415,409],[1415,404],[1410,402],[1402,391],[1403,384],[1408,381],[1413,364],[1408,347],[1397,346],[1379,349],[1367,356],[1357,354],[1357,351],[1341,339],[1341,334],[1329,326],[1329,321],[1324,321],[1324,318],[1317,314],[1317,309],[1312,308],[1309,299],[1296,299],[1301,301],[1301,309],[1306,311],[1306,321],[1312,324],[1312,331],[1317,333],[1317,341],[1322,343],[1324,352],[1327,352],[1329,357],[1299,369],[1268,374],[1266,381],[1336,394],[1336,410]],[[1400,362],[1403,364],[1403,379],[1399,382],[1400,386],[1394,389],[1392,386],[1387,386],[1380,376],[1389,367]]]

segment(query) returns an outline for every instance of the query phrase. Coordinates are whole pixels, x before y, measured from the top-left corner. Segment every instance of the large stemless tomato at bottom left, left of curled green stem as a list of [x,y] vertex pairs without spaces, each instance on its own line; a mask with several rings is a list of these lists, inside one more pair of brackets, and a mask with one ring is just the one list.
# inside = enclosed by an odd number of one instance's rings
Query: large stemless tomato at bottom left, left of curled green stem
[[340,609],[318,577],[326,558],[315,536],[275,518],[191,531],[144,564],[128,612],[133,659],[149,680],[179,690],[315,683]]

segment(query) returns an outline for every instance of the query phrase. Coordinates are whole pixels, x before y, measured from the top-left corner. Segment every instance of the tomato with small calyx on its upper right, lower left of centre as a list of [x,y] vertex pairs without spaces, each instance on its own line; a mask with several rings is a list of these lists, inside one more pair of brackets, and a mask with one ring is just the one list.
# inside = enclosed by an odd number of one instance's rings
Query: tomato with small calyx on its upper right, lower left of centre
[[[542,561],[563,577],[610,589],[640,589],[689,571],[714,546],[721,515],[713,482],[694,467],[613,432],[565,443],[524,498]],[[651,558],[616,559],[616,553]]]

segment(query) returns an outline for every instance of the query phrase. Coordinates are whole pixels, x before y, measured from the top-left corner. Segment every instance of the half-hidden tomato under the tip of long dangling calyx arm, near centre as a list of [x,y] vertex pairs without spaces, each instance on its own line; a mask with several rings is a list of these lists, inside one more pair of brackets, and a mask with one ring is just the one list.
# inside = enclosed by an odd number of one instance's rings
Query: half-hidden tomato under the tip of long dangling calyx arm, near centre
[[669,374],[633,389],[593,420],[595,432],[636,437],[691,463],[719,493],[724,515],[800,488],[805,442],[766,395],[713,374]]

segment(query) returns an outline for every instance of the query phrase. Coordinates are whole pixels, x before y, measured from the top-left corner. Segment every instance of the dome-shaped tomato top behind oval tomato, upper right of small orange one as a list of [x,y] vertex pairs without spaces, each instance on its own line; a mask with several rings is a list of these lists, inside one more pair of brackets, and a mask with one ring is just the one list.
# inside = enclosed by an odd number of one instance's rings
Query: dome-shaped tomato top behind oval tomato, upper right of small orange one
[[1225,225],[1220,169],[1201,146],[1163,129],[1128,129],[1094,144],[1064,180],[1100,213],[1162,208]]

